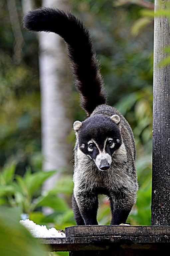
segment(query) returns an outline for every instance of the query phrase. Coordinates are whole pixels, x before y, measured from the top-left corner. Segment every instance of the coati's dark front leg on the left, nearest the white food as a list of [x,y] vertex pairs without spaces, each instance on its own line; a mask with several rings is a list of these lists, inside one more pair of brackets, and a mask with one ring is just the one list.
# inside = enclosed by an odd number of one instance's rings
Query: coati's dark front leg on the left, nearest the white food
[[[85,225],[98,225],[97,223],[97,209],[98,209],[98,197],[92,192],[75,192],[74,198],[79,208],[80,214],[84,220]],[[75,209],[74,214],[75,213]],[[80,225],[77,222],[77,225]]]

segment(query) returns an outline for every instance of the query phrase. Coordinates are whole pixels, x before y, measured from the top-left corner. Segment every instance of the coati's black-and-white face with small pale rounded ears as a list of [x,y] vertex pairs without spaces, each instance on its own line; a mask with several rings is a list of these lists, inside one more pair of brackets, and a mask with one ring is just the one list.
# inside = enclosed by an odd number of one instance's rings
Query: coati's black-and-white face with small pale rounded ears
[[110,168],[112,155],[122,143],[119,123],[118,115],[102,114],[91,116],[84,122],[74,122],[80,150],[93,159],[101,171]]

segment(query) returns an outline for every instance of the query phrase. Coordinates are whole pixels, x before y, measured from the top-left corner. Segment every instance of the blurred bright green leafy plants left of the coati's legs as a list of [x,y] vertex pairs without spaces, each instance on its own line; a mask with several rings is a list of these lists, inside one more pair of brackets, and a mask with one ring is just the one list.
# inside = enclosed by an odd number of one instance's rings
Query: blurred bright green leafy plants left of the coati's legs
[[[19,207],[22,214],[26,214],[27,218],[37,224],[55,223],[58,229],[75,224],[70,205],[73,191],[70,175],[59,178],[55,188],[42,194],[42,184],[56,171],[31,173],[28,168],[22,177],[14,174],[15,168],[16,164],[12,163],[4,166],[0,173],[0,205]],[[54,212],[45,216],[41,211],[45,206],[52,208]]]

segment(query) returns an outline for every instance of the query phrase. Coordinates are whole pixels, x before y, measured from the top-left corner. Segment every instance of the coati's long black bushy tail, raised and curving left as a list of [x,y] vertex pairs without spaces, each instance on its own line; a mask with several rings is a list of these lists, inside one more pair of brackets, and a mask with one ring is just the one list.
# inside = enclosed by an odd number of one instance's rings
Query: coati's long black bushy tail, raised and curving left
[[81,94],[81,106],[90,115],[106,103],[102,77],[87,28],[73,14],[53,8],[30,11],[23,19],[24,27],[32,31],[54,32],[67,43],[76,87]]

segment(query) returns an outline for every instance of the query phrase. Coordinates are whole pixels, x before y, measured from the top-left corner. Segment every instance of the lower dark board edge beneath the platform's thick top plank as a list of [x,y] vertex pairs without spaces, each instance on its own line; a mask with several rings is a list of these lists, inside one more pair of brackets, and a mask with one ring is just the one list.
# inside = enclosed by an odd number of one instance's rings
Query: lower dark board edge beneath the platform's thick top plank
[[170,236],[132,237],[132,236],[91,236],[71,238],[39,239],[47,251],[91,251],[110,250],[112,248],[153,249],[170,248]]

